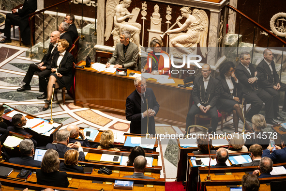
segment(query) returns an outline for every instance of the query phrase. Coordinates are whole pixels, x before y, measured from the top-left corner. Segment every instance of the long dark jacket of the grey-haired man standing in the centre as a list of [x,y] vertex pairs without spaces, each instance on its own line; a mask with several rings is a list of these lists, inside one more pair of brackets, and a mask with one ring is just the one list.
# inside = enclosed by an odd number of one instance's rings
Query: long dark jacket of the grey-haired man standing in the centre
[[[159,104],[156,100],[156,97],[151,88],[146,88],[145,96],[148,98],[148,108],[151,108],[156,112],[159,111]],[[130,133],[135,134],[145,134],[147,132],[147,117],[142,118],[142,114],[147,110],[146,101],[144,104],[141,103],[141,97],[138,92],[135,90],[132,92],[126,99],[126,110],[125,115],[130,123]],[[142,107],[141,107],[142,106]],[[141,129],[142,124],[142,129]],[[155,119],[154,117],[149,117],[149,134],[155,133]]]

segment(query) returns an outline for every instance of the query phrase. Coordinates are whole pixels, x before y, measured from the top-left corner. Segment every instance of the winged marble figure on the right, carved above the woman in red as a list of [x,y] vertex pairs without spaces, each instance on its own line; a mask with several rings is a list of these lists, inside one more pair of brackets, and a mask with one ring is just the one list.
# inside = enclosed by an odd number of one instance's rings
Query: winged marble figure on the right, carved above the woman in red
[[[179,58],[182,58],[183,54],[196,54],[196,47],[199,43],[202,56],[206,57],[209,30],[209,18],[206,12],[198,9],[194,9],[192,12],[190,7],[182,7],[180,10],[182,16],[179,16],[176,22],[179,28],[165,32],[169,35],[169,47],[176,47],[171,48],[172,52],[170,53]],[[180,20],[183,17],[186,18],[186,21],[181,24]],[[177,47],[180,48],[180,51]]]

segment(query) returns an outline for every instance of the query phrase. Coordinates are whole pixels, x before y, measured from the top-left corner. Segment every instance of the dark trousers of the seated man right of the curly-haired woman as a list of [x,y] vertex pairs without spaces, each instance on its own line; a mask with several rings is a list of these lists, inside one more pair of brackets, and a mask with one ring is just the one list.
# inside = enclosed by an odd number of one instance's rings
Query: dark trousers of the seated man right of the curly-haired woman
[[259,88],[257,91],[252,91],[249,96],[246,95],[245,100],[251,104],[251,109],[247,113],[247,117],[250,119],[253,115],[259,113],[263,102],[265,103],[265,118],[274,118],[272,96],[262,88]]

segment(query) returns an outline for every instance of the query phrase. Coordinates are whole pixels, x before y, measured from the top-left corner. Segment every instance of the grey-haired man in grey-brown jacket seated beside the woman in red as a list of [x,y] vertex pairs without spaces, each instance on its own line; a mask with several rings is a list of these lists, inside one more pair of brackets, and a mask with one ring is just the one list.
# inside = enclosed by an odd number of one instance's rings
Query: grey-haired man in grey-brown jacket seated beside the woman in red
[[[128,31],[123,31],[120,34],[120,43],[117,43],[115,50],[112,54],[109,63],[106,64],[106,67],[109,67],[110,64],[114,64],[118,59],[119,64],[116,64],[116,68],[126,68],[130,70],[138,70],[138,56],[139,50],[137,45],[130,42],[131,33]],[[139,68],[140,69],[140,68]]]

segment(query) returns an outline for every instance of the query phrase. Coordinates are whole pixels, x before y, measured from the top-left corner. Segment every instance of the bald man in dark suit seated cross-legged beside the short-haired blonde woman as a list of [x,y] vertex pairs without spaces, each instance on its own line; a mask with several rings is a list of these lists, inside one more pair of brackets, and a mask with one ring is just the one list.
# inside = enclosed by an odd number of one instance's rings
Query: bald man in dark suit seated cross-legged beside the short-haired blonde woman
[[44,92],[43,95],[38,96],[37,99],[45,99],[46,98],[46,87],[47,87],[47,79],[51,74],[51,62],[55,54],[58,54],[58,40],[60,39],[60,32],[54,31],[51,33],[50,37],[50,45],[48,52],[43,57],[41,63],[37,66],[36,64],[30,64],[27,74],[24,78],[24,82],[26,83],[21,88],[17,89],[17,92],[23,92],[26,90],[31,90],[30,82],[33,78],[35,72],[39,72],[39,87],[40,92]]

